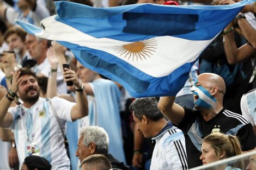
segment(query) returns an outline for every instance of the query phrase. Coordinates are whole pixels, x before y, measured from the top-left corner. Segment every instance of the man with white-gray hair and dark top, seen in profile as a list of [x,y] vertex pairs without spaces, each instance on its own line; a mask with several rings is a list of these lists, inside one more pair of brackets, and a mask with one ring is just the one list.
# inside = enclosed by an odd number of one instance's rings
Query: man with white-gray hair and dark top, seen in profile
[[119,162],[108,154],[109,138],[106,131],[97,126],[83,127],[80,130],[80,138],[77,142],[76,156],[82,163],[84,159],[93,154],[102,154],[111,162],[113,168],[129,170],[124,162]]

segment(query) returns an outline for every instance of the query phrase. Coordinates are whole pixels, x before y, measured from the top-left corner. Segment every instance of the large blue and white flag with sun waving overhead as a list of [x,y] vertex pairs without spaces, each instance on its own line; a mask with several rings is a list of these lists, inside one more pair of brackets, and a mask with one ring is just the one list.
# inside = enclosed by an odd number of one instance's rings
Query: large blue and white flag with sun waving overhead
[[255,0],[232,5],[135,4],[93,8],[58,1],[29,34],[68,47],[90,70],[118,81],[133,97],[171,96],[184,86],[200,53]]

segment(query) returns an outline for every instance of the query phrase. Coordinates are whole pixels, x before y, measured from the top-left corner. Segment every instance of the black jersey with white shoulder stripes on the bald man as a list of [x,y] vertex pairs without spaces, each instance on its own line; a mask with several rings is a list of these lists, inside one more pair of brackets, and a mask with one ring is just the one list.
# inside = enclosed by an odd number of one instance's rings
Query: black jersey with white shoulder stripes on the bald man
[[199,110],[186,107],[184,110],[185,115],[178,128],[185,135],[189,168],[202,165],[202,160],[199,159],[202,154],[201,145],[203,138],[209,134],[237,136],[243,151],[255,148],[256,137],[252,125],[242,115],[222,109],[215,117],[205,121]]

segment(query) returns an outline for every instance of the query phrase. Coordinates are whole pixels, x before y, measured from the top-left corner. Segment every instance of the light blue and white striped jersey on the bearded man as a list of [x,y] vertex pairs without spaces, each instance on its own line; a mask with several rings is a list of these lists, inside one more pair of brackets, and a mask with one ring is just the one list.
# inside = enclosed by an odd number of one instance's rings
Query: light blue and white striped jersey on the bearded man
[[[71,122],[71,109],[75,103],[59,97],[54,97],[51,101],[64,128],[67,121]],[[51,163],[53,170],[70,169],[62,131],[48,100],[39,97],[31,108],[17,105],[9,108],[8,112],[13,116],[10,129],[14,133],[20,162],[29,155],[27,147],[33,144],[39,149],[39,155]]]

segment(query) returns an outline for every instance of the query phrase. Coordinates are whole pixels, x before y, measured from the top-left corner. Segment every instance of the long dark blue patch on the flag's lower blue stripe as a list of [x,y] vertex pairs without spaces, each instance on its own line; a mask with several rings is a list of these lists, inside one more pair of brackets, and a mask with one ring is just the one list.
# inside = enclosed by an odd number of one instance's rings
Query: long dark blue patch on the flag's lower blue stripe
[[117,77],[121,77],[137,93],[144,93],[148,90],[148,86],[150,84],[148,81],[143,81],[134,77],[117,64],[109,63],[86,51],[81,51],[81,57],[83,61],[87,62],[87,64],[91,65],[92,67],[102,68],[109,73],[117,75]]

